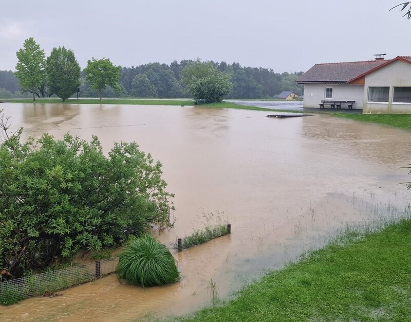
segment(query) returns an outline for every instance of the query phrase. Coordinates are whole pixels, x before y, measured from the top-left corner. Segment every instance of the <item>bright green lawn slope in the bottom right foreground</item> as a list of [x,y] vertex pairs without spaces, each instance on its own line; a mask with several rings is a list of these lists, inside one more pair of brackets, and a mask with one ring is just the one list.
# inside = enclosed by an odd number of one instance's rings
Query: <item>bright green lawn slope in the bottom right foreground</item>
[[[404,321],[411,316],[411,220],[333,243],[182,321]],[[358,236],[357,236],[358,237]]]

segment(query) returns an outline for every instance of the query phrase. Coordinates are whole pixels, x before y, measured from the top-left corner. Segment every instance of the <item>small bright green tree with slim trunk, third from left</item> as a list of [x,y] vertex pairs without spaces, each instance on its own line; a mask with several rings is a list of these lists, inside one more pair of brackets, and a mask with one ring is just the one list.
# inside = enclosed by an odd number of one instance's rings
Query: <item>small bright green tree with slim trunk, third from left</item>
[[108,58],[95,59],[87,61],[87,67],[84,68],[86,80],[90,83],[90,87],[101,93],[107,87],[113,88],[116,92],[120,92],[120,66],[115,66]]

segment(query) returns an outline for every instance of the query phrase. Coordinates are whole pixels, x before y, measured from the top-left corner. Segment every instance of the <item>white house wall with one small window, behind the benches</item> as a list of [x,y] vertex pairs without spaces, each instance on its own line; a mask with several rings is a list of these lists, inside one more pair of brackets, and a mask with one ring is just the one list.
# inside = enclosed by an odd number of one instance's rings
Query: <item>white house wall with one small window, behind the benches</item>
[[[325,88],[332,88],[332,99],[325,98]],[[353,109],[362,109],[363,85],[304,84],[304,108],[320,108],[322,100],[356,101]]]

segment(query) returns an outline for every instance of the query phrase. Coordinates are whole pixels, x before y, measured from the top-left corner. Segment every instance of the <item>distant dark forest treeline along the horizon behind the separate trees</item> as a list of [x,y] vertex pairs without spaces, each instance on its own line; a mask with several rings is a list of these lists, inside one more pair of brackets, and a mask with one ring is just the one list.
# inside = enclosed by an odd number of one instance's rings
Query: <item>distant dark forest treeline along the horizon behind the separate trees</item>
[[[140,66],[122,67],[120,92],[107,87],[102,92],[103,97],[189,97],[183,93],[180,83],[181,71],[191,62],[173,61],[170,65],[149,63]],[[282,91],[294,91],[302,94],[301,86],[294,81],[303,74],[275,73],[272,69],[257,67],[242,67],[239,63],[212,62],[220,71],[231,75],[232,90],[227,98],[272,98]],[[28,97],[21,94],[18,80],[11,70],[0,70],[0,98]],[[81,97],[99,97],[97,90],[90,87],[86,81],[84,70],[81,73]]]

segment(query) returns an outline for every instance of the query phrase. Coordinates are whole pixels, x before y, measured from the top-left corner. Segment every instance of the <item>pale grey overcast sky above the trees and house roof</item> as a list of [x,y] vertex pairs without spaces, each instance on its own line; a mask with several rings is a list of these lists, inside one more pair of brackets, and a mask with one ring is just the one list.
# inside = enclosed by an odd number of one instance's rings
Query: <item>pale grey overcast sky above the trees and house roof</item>
[[401,0],[0,0],[0,69],[33,37],[130,67],[196,59],[305,71],[315,63],[411,55]]

